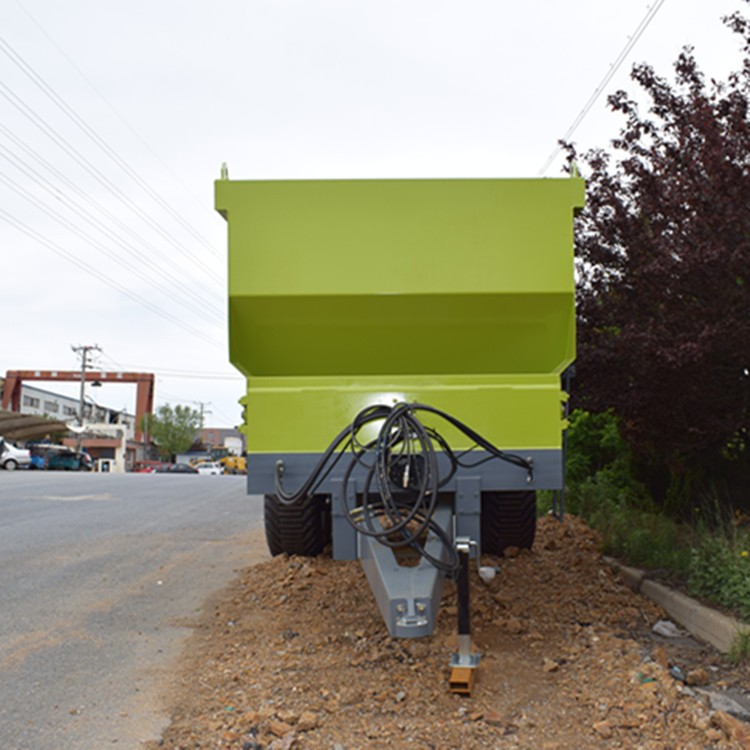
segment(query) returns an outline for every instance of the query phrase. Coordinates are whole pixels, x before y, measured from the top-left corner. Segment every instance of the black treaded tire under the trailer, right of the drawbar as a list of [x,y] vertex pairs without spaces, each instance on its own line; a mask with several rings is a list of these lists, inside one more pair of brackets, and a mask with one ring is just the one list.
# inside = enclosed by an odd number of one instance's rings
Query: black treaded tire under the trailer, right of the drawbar
[[536,536],[536,492],[482,493],[482,552],[502,555],[507,547],[531,549]]

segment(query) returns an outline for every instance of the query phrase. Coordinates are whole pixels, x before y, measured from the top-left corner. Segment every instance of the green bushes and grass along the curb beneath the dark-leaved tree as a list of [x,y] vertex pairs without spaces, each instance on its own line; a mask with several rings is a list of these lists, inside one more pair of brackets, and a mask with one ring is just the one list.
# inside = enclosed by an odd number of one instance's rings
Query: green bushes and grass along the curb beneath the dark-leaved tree
[[[566,510],[599,532],[602,552],[665,572],[750,623],[750,529],[722,520],[715,502],[696,509],[690,522],[666,515],[634,478],[612,414],[574,412],[570,422]],[[540,508],[550,498],[545,493]],[[737,653],[747,659],[750,630],[743,633]]]

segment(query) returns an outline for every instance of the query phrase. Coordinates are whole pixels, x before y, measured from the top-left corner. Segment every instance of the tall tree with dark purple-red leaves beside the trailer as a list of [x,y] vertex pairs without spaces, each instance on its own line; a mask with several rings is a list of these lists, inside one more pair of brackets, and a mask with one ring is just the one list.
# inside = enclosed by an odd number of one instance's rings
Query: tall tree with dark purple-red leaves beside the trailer
[[588,178],[579,404],[614,409],[641,463],[683,496],[688,480],[750,466],[750,23],[724,21],[740,71],[706,82],[689,47],[674,83],[637,65],[648,113],[619,91],[613,153],[567,145]]

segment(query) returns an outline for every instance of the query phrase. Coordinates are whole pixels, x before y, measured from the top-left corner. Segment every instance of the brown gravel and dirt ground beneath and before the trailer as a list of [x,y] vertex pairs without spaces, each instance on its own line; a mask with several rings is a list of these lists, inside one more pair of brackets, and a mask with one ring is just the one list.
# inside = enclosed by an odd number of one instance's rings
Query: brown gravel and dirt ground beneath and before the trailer
[[701,691],[742,691],[750,669],[654,635],[664,613],[602,562],[582,521],[543,518],[532,552],[483,562],[500,572],[472,574],[470,697],[448,690],[450,582],[435,635],[398,640],[358,563],[279,556],[196,623],[172,724],[149,747],[750,749],[750,724]]

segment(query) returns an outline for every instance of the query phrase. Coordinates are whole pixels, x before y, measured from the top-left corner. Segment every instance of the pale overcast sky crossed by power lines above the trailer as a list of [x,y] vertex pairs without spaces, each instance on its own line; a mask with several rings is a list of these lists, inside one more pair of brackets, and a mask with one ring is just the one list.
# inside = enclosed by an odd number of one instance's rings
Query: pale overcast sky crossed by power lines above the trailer
[[[605,94],[636,92],[691,44],[739,68],[721,17],[741,0],[3,0],[0,374],[157,375],[157,403],[239,422],[228,360],[233,179],[535,177],[618,56]],[[607,146],[593,106],[573,140]],[[546,170],[557,176],[561,158]],[[76,392],[53,384],[36,384]],[[135,389],[96,400],[132,411]]]

